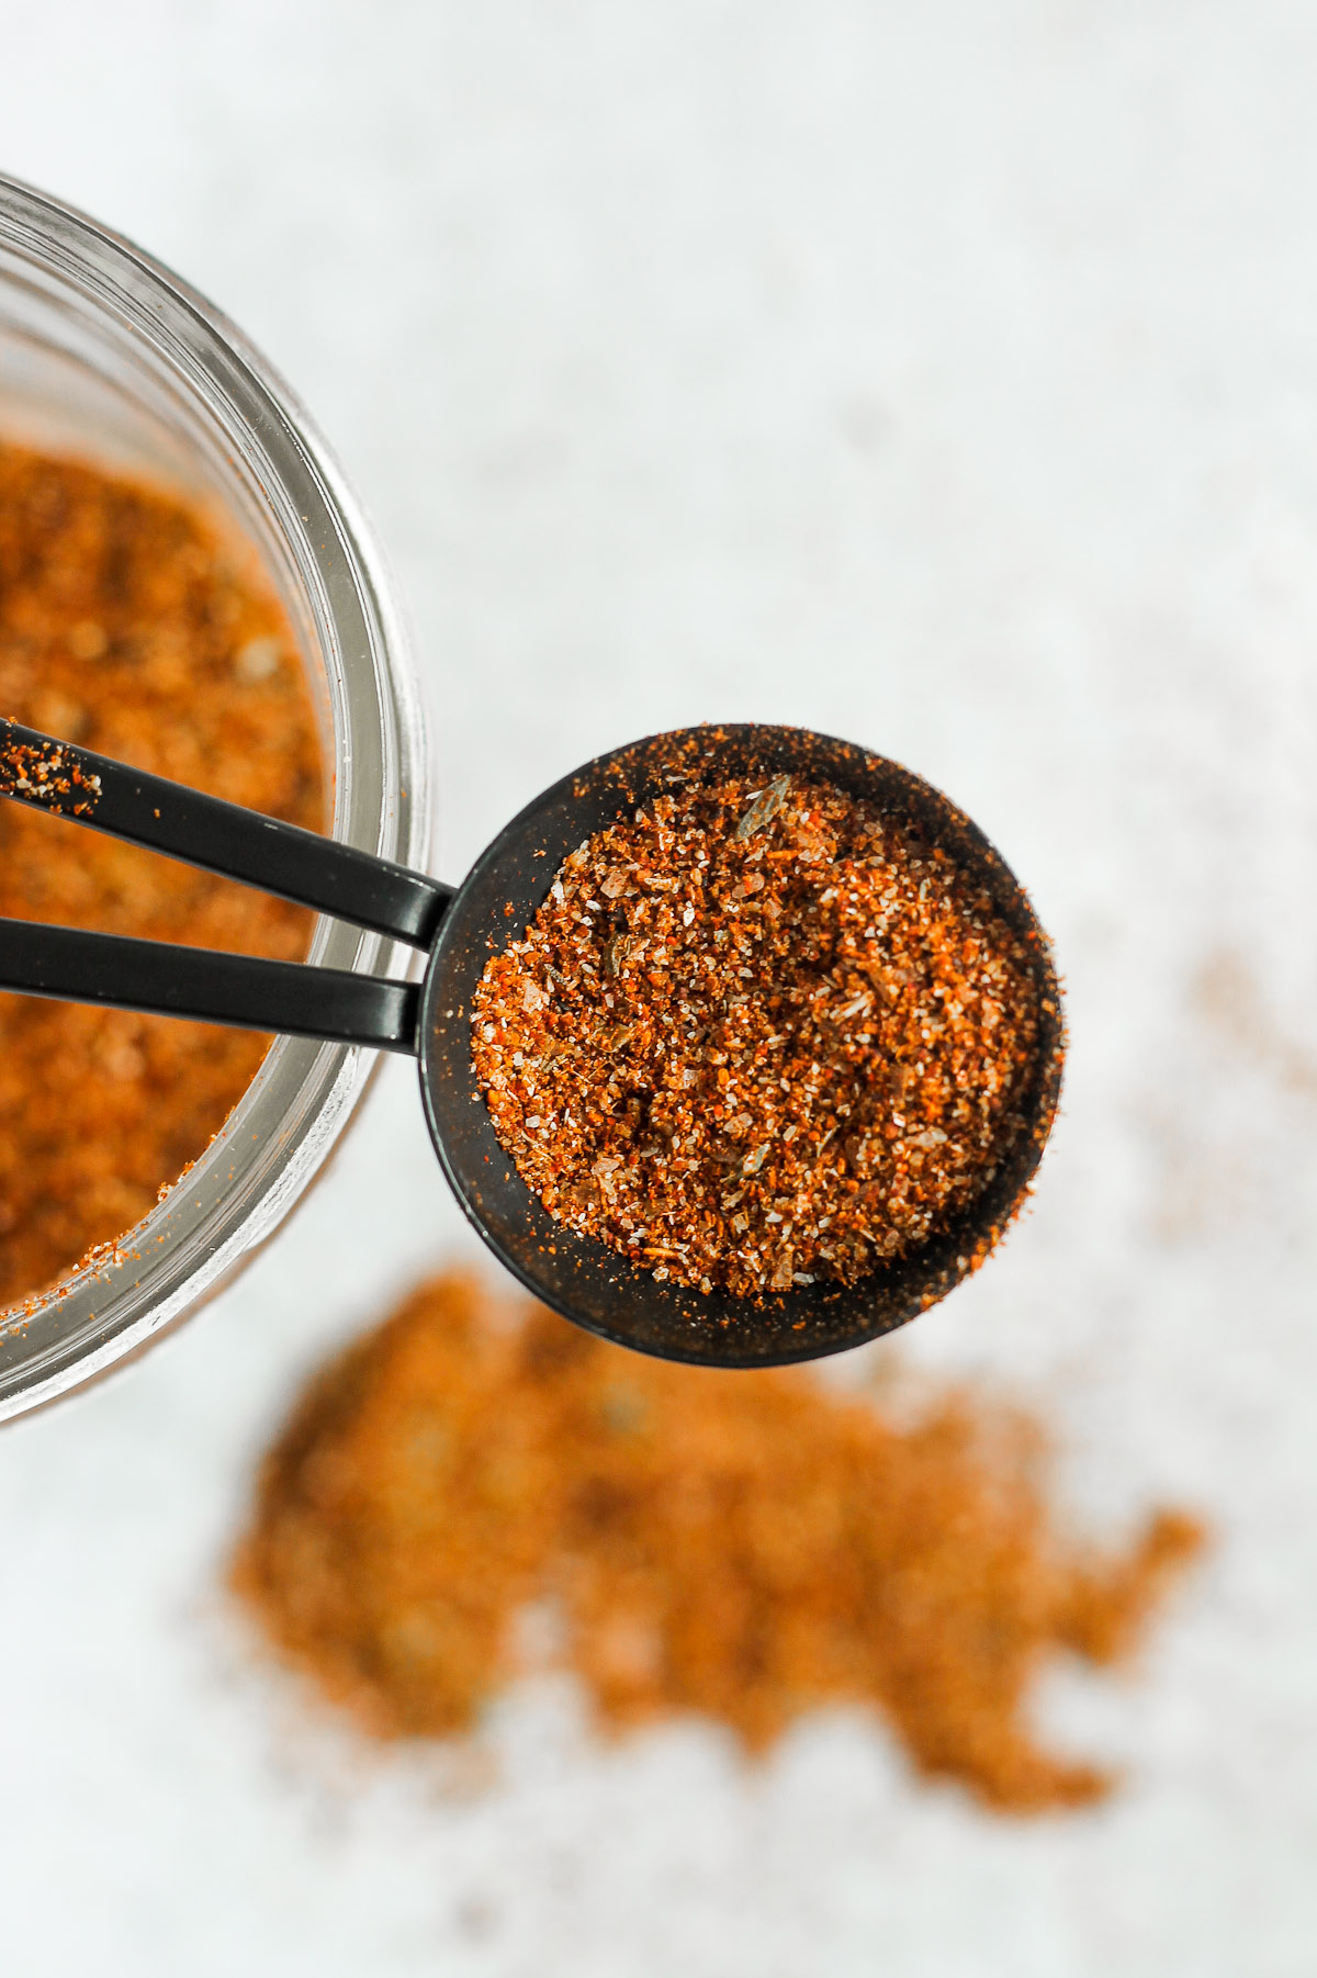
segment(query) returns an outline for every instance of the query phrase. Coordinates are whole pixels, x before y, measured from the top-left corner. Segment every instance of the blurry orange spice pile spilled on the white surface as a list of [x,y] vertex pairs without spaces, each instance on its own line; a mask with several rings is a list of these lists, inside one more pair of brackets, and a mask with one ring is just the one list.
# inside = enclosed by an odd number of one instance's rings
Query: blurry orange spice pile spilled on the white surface
[[1125,1658],[1200,1541],[1179,1511],[1123,1557],[1066,1539],[1042,1430],[967,1391],[886,1418],[439,1276],[307,1389],[233,1586],[378,1737],[469,1731],[538,1620],[605,1729],[702,1711],[761,1751],[874,1705],[920,1772],[1032,1812],[1113,1782],[1036,1743],[1032,1681]]

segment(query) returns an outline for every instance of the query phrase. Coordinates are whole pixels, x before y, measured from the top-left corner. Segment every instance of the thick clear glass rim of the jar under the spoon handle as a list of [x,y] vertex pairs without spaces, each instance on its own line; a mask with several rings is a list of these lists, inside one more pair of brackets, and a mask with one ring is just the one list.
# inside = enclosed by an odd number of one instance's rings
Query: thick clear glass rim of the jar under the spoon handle
[[[403,864],[429,851],[423,720],[394,584],[314,421],[178,275],[49,194],[0,176],[0,291],[67,311],[170,396],[233,465],[279,538],[314,625],[332,736],[332,835]],[[127,374],[127,372],[125,372]],[[407,973],[395,944],[320,918],[308,959]],[[0,1315],[0,1420],[140,1353],[212,1298],[305,1193],[356,1110],[374,1054],[277,1038],[198,1161],[119,1242]]]

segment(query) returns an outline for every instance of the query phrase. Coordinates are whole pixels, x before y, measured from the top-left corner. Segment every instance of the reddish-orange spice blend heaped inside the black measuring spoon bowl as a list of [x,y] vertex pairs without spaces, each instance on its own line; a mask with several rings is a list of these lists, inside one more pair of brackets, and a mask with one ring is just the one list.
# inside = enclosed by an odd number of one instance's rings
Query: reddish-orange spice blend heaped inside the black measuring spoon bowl
[[692,783],[566,860],[473,1003],[544,1207],[655,1278],[852,1284],[1024,1133],[1026,944],[951,856],[827,783]]

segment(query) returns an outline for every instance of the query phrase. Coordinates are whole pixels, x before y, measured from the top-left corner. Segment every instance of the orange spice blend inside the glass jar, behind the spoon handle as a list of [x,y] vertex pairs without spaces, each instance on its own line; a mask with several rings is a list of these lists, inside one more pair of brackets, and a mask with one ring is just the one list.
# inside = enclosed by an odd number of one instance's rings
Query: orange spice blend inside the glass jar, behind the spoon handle
[[[316,720],[277,601],[198,508],[6,443],[0,714],[320,825]],[[6,762],[0,781],[67,781],[59,752]],[[65,795],[73,815],[89,801],[75,783]],[[301,959],[310,934],[301,908],[18,803],[0,803],[0,916],[281,959]],[[0,997],[0,1302],[131,1228],[206,1149],[267,1046]]]

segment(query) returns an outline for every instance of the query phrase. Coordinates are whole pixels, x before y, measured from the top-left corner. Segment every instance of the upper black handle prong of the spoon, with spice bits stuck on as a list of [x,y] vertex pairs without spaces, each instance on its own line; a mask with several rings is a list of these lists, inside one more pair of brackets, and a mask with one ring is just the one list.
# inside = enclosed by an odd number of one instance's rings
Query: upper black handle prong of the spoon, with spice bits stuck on
[[376,858],[2,718],[0,797],[109,831],[413,947],[431,945],[453,898],[449,886],[392,858]]

